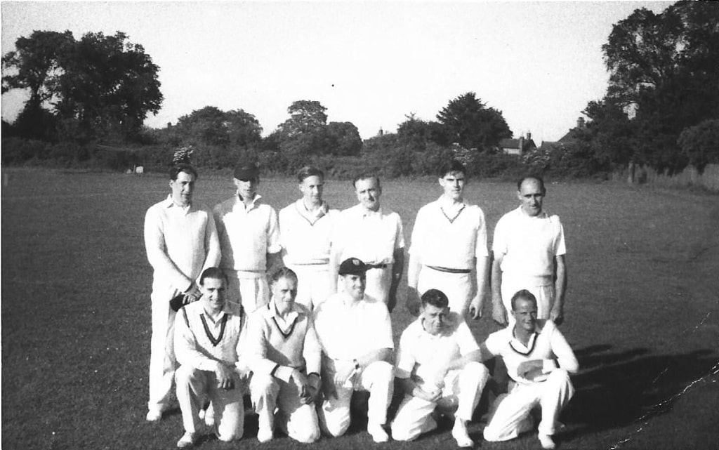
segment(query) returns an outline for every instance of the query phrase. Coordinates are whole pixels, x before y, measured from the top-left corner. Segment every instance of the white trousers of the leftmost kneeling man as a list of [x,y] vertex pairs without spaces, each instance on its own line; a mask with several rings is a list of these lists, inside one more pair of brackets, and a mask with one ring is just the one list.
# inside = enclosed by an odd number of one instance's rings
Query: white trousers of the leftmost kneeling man
[[243,380],[239,373],[235,374],[234,388],[224,390],[217,387],[214,372],[182,365],[177,369],[176,382],[185,431],[196,433],[200,429],[202,423],[199,416],[200,408],[207,399],[210,400],[210,408],[214,413],[217,437],[221,441],[242,438],[244,428],[242,385],[246,380]]

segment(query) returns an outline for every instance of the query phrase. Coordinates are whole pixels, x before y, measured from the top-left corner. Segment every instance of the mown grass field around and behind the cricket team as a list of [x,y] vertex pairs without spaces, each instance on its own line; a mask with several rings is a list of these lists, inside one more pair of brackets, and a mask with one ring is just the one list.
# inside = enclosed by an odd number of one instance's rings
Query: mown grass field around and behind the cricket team
[[[142,221],[168,193],[161,175],[3,170],[2,448],[170,449],[180,412],[145,422],[150,283]],[[429,181],[383,183],[409,239],[418,208],[439,196]],[[510,183],[475,182],[490,231],[516,206]],[[562,331],[582,367],[563,421],[563,449],[719,448],[719,198],[618,184],[551,184],[545,206],[562,217],[569,291]],[[229,175],[198,181],[209,206],[232,195]],[[293,180],[263,180],[280,208]],[[326,183],[332,206],[354,203],[347,181]],[[490,232],[491,234],[491,232]],[[404,283],[406,285],[406,283]],[[400,302],[404,288],[400,289]],[[393,313],[397,338],[411,317]],[[471,323],[477,339],[497,327]],[[483,449],[539,449],[535,435]],[[238,444],[202,449],[306,448],[288,438],[260,445],[256,418]],[[452,448],[445,426],[411,444],[373,444],[353,426],[312,448]]]

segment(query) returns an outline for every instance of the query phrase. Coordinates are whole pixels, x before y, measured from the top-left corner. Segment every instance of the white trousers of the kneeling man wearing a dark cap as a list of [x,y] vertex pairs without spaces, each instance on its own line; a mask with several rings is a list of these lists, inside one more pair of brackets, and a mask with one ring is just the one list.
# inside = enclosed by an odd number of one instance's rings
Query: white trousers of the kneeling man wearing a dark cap
[[[324,362],[323,362],[324,364]],[[324,368],[323,376],[334,380],[334,369]],[[354,375],[352,387],[335,385],[337,398],[325,398],[318,408],[319,422],[324,433],[330,436],[342,436],[349,428],[349,404],[352,392],[365,390],[370,392],[367,402],[367,422],[383,425],[387,422],[387,408],[392,401],[394,391],[394,369],[385,361],[375,361]]]

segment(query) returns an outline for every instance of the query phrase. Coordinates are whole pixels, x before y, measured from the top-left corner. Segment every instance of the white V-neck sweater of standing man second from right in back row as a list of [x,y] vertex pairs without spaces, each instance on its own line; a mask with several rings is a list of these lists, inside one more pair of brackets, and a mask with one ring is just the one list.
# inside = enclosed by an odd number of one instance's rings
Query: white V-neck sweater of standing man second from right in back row
[[444,196],[417,212],[409,252],[423,265],[471,270],[474,260],[487,256],[487,223],[477,205],[458,208]]

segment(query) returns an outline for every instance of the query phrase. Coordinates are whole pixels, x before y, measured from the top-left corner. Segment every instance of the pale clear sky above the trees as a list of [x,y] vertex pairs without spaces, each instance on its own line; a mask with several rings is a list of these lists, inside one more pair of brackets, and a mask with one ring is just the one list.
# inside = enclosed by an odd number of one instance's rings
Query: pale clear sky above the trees
[[[263,134],[297,100],[363,139],[409,114],[436,120],[469,91],[537,145],[574,127],[609,75],[601,46],[634,9],[671,1],[1,2],[2,53],[33,30],[114,35],[145,47],[165,100],[149,127],[204,106],[243,109]],[[2,96],[12,121],[27,98]]]

